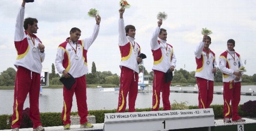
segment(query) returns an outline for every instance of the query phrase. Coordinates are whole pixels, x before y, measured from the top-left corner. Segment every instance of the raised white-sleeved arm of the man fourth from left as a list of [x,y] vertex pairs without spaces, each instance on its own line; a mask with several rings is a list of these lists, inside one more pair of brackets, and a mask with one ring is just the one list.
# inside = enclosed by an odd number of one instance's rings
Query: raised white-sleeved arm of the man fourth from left
[[152,50],[156,50],[158,48],[158,35],[159,35],[159,32],[160,32],[160,27],[161,25],[163,24],[163,21],[162,20],[159,20],[157,22],[157,27],[156,27],[156,30],[153,32],[153,35],[152,35],[152,38],[150,40],[150,46],[151,46],[151,49]]

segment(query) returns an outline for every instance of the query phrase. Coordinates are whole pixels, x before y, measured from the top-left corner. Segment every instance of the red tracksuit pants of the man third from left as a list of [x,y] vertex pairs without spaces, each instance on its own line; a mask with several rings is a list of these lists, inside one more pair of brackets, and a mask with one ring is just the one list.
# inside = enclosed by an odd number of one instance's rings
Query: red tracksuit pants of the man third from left
[[130,68],[121,67],[120,75],[120,90],[118,97],[118,113],[125,112],[126,109],[126,97],[129,92],[129,112],[135,112],[135,101],[138,94],[138,73]]

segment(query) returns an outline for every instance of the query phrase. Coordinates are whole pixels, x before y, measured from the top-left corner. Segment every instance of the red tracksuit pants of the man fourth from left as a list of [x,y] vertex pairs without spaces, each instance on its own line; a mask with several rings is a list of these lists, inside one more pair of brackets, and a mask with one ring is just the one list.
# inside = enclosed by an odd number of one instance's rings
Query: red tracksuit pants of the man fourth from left
[[154,80],[153,80],[153,102],[152,102],[152,111],[159,110],[159,102],[160,102],[160,91],[162,91],[162,101],[164,111],[171,110],[171,103],[169,100],[170,96],[170,85],[171,81],[165,83],[165,73],[161,71],[154,70]]

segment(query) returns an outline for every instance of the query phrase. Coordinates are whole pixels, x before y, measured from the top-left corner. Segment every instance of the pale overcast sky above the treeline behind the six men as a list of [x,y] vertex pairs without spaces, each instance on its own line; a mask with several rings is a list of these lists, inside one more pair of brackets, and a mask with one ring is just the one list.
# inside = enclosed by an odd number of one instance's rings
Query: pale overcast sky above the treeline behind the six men
[[[14,27],[22,0],[1,0],[0,4],[0,72],[14,67],[17,53],[14,47]],[[131,4],[124,13],[125,25],[136,28],[135,41],[147,55],[144,66],[153,66],[150,39],[157,27],[157,13],[166,12],[168,18],[162,28],[167,30],[167,43],[173,45],[176,69],[195,71],[194,50],[202,40],[201,29],[212,30],[210,49],[219,55],[227,49],[227,40],[235,40],[235,50],[247,72],[256,74],[256,1],[255,0],[128,0]],[[102,21],[97,39],[88,50],[88,69],[92,62],[97,71],[120,74],[121,60],[118,47],[119,0],[35,0],[26,3],[25,18],[38,19],[36,34],[45,45],[44,69],[55,63],[57,47],[69,37],[72,27],[81,29],[80,39],[92,34],[95,18],[89,17],[90,8],[99,10]],[[185,65],[185,66],[184,66]],[[15,68],[15,67],[14,67]],[[57,72],[57,70],[56,70]]]

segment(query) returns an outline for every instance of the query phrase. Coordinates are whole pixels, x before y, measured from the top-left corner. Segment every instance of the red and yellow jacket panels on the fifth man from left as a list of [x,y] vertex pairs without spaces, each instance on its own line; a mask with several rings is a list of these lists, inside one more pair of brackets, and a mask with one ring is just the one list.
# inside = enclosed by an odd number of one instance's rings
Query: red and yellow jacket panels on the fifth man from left
[[[205,49],[203,49],[203,52],[206,52],[206,50]],[[215,61],[215,54],[213,53],[213,51],[211,51],[210,49],[209,49],[209,57],[211,57],[210,56],[210,54],[213,54],[213,63],[214,63],[214,61]],[[201,54],[201,57],[198,59],[197,57],[195,57],[195,62],[196,62],[196,64],[197,64],[197,67],[196,67],[196,71],[195,72],[200,72],[200,71],[202,71],[203,69],[204,69],[204,55],[203,55],[203,53]]]

